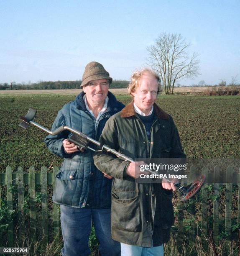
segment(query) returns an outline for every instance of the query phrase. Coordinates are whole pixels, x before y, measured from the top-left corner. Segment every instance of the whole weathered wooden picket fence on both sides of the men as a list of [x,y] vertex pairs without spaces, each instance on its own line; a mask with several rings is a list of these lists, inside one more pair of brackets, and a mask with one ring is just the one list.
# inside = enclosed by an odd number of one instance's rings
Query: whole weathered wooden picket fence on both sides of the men
[[[35,172],[34,167],[32,166],[30,169],[28,169],[28,173],[23,172],[22,167],[18,167],[18,172],[13,173],[10,166],[6,168],[5,173],[0,174],[0,200],[1,198],[1,190],[2,186],[6,185],[6,197],[7,197],[7,206],[8,206],[8,215],[10,216],[13,212],[13,193],[11,192],[12,185],[17,185],[18,188],[18,218],[20,223],[20,226],[18,226],[18,239],[20,241],[24,241],[26,236],[25,225],[24,225],[24,212],[23,212],[23,202],[24,202],[24,185],[29,186],[29,208],[30,208],[30,230],[29,230],[29,237],[31,238],[32,242],[36,241],[36,218],[40,214],[36,211],[36,185],[41,185],[41,220],[42,220],[42,234],[43,237],[41,239],[41,244],[43,246],[47,246],[49,243],[49,223],[48,223],[48,186],[54,185],[54,180],[56,177],[56,174],[59,172],[58,167],[53,168],[53,172],[48,173],[47,168],[43,166],[41,168],[41,172]],[[205,173],[206,175],[211,176],[212,180],[217,181],[218,176],[220,174],[219,167],[214,167],[214,172],[209,173],[208,169],[205,167],[202,169],[202,173]],[[190,175],[198,175],[197,169],[194,166],[191,166],[190,168]],[[233,186],[232,184],[236,184],[238,186],[238,202],[237,202],[237,225],[240,225],[240,170],[239,172],[234,172],[232,167],[227,167],[226,169],[226,177],[227,180],[233,181],[232,183],[226,183],[225,184],[225,234],[227,235],[227,243],[231,243],[231,233],[232,233],[232,190]],[[211,178],[211,177],[210,177]],[[211,179],[210,179],[211,180]],[[209,204],[209,195],[208,195],[208,184],[204,184],[202,187],[202,198],[201,198],[201,227],[198,226],[196,221],[193,221],[191,223],[191,228],[188,232],[188,241],[189,243],[194,243],[194,239],[197,234],[197,230],[199,228],[201,229],[202,235],[204,237],[209,236],[209,227],[208,227],[208,204]],[[213,241],[217,245],[219,242],[219,226],[220,226],[220,197],[221,197],[221,191],[220,191],[220,184],[219,183],[213,183],[213,195],[212,198],[214,198],[213,201],[213,214],[212,214],[212,234],[213,234]],[[1,204],[0,204],[1,205]],[[189,209],[192,216],[196,215],[196,199],[191,199],[189,201]],[[178,203],[178,213],[177,213],[177,236],[176,239],[178,241],[179,245],[183,245],[186,241],[186,233],[184,234],[184,203],[179,202]],[[56,243],[59,242],[60,239],[60,220],[59,220],[59,210],[58,205],[54,204],[53,206],[53,232],[54,232],[54,241]],[[16,230],[16,227],[13,226],[13,220],[10,219],[9,225],[8,225],[8,247],[14,247],[14,231]],[[16,231],[15,231],[16,232]],[[2,246],[2,245],[0,245]]]

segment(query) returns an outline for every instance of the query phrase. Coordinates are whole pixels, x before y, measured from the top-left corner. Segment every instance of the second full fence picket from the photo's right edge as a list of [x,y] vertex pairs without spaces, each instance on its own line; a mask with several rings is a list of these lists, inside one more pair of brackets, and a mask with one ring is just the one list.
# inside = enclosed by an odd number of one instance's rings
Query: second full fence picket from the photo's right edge
[[213,225],[212,225],[212,231],[213,231],[213,240],[214,244],[218,245],[218,231],[219,231],[219,182],[220,182],[220,167],[215,166],[214,167],[214,179],[213,179]]

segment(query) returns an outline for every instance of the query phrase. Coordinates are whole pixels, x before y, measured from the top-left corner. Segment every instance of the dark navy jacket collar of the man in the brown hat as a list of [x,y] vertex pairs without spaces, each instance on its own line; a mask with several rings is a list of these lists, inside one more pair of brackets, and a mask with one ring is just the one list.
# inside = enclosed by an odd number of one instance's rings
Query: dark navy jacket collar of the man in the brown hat
[[[83,110],[83,111],[87,111],[83,96],[84,96],[84,92],[80,92],[79,95],[76,96],[75,99],[75,105],[76,108],[79,110]],[[112,92],[108,92],[107,93],[107,97],[108,97],[108,103],[107,103],[107,112],[108,111],[117,111],[117,99],[116,97],[112,94]],[[119,111],[119,110],[118,110]]]

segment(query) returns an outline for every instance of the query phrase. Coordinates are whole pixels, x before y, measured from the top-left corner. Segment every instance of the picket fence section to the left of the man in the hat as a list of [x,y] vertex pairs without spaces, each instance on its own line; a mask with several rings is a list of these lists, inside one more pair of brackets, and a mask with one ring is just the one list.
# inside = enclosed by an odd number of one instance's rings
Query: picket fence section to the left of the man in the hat
[[[45,247],[49,242],[49,220],[48,220],[48,185],[54,185],[55,177],[59,172],[58,167],[53,168],[53,172],[48,173],[46,166],[41,168],[40,173],[35,172],[33,166],[28,169],[28,173],[23,172],[22,167],[18,167],[17,173],[12,173],[10,166],[6,168],[6,173],[0,174],[0,185],[6,185],[6,197],[8,206],[8,215],[11,216],[13,212],[13,193],[11,192],[12,185],[18,186],[18,242],[21,244],[26,239],[25,230],[25,216],[23,211],[24,203],[24,185],[29,186],[29,215],[30,215],[30,230],[29,238],[31,238],[31,245],[36,243],[36,223],[39,212],[36,211],[36,185],[41,185],[41,219],[42,219],[42,233],[41,244]],[[1,186],[0,186],[0,200],[1,199]],[[1,201],[0,201],[1,202]],[[1,204],[0,204],[1,205]],[[13,226],[13,219],[9,218],[8,222],[8,247],[14,247],[14,230],[16,227]],[[53,232],[54,242],[59,243],[60,235],[60,213],[58,205],[53,204]]]

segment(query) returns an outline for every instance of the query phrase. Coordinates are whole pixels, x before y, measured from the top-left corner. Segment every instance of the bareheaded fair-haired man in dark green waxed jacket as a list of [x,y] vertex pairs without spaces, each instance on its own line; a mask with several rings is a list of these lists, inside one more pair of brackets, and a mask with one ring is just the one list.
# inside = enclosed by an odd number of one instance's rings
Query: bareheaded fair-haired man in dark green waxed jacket
[[[151,69],[135,71],[128,92],[134,100],[106,123],[100,142],[132,159],[185,158],[173,119],[154,102],[160,79]],[[163,255],[174,223],[173,182],[138,184],[140,164],[109,152],[94,156],[94,164],[114,177],[112,238],[121,242],[122,255]]]

